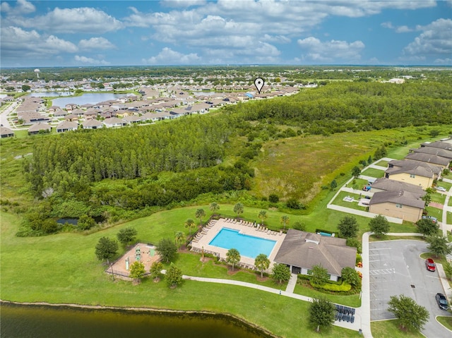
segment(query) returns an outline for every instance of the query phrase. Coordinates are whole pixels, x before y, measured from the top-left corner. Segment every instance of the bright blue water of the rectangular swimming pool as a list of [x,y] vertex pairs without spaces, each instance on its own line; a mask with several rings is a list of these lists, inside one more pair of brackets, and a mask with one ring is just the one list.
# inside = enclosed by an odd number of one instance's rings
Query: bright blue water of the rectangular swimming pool
[[256,258],[259,253],[270,255],[276,241],[261,239],[260,237],[239,234],[239,230],[222,228],[210,241],[210,246],[219,246],[224,249],[237,249],[241,256]]

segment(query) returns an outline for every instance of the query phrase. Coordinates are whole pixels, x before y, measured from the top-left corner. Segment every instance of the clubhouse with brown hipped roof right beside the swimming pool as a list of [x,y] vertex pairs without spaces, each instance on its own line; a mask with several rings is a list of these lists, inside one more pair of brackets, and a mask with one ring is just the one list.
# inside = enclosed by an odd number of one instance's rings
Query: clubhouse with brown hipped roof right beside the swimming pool
[[330,280],[338,281],[344,267],[355,268],[356,253],[345,239],[289,229],[274,260],[295,274],[311,274],[315,265],[321,265]]

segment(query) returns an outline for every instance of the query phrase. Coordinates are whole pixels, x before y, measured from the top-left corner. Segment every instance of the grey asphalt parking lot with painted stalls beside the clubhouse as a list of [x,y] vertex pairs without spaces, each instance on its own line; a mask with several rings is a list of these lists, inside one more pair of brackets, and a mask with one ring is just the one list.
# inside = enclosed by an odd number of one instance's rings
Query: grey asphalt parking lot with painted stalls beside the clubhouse
[[429,272],[419,255],[427,251],[423,241],[382,241],[369,243],[369,280],[371,320],[394,318],[388,312],[391,296],[404,294],[427,308],[429,322],[422,334],[427,338],[448,338],[451,332],[436,322],[437,315],[451,315],[440,310],[435,294],[444,294],[438,272]]

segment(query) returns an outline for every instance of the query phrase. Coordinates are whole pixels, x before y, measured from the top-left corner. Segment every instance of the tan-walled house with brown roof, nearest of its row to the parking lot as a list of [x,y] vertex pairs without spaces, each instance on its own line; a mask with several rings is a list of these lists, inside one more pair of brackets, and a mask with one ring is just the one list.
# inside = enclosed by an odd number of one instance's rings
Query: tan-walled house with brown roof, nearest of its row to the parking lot
[[419,221],[424,207],[421,195],[403,190],[374,193],[369,202],[369,212],[409,222]]

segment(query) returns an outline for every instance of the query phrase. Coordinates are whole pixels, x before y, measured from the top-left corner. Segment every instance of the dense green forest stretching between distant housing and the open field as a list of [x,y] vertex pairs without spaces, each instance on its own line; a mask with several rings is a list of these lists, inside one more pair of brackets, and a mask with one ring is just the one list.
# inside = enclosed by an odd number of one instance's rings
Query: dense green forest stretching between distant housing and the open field
[[268,140],[451,124],[451,111],[452,87],[443,83],[344,82],[153,126],[42,136],[24,160],[41,202],[25,215],[22,234],[57,231],[52,217],[114,222],[201,194],[250,189],[250,160]]

